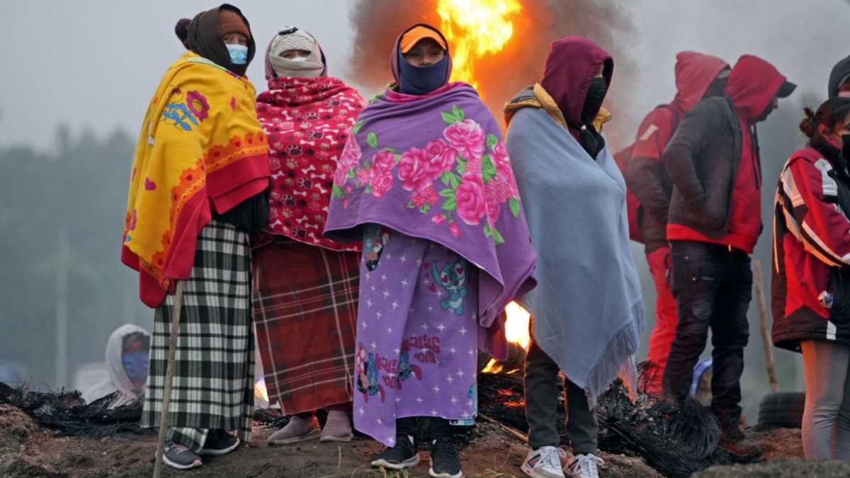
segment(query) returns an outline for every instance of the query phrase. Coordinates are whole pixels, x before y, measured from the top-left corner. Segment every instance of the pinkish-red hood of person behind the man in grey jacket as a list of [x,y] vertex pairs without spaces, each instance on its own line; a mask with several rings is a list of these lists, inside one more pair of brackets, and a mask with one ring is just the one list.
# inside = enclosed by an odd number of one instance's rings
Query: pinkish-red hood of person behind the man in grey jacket
[[673,103],[686,113],[690,111],[702,100],[711,82],[728,66],[728,63],[710,54],[679,52],[676,55],[677,92]]

